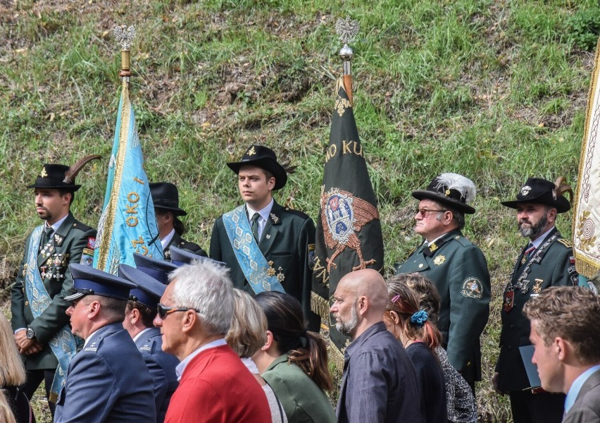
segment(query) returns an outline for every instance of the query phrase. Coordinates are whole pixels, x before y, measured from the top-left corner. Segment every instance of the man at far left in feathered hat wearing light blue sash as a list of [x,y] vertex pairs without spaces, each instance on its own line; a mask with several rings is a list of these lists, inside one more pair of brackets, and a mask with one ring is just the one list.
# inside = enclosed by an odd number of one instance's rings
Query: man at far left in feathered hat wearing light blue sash
[[65,314],[70,305],[65,296],[73,287],[67,267],[80,262],[91,266],[94,255],[96,230],[77,221],[69,210],[81,186],[75,185],[75,175],[93,158],[86,157],[71,168],[44,164],[35,183],[27,186],[34,189],[35,208],[44,223],[25,241],[11,290],[11,323],[27,369],[23,391],[31,398],[44,380],[53,415],[64,374],[76,353]]

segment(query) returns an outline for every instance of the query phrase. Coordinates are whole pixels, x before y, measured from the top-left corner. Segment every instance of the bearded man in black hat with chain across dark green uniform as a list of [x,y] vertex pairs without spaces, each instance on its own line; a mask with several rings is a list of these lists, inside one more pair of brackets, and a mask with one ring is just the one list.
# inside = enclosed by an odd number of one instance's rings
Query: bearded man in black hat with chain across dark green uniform
[[501,310],[500,355],[492,378],[499,393],[508,393],[515,423],[561,422],[564,396],[542,388],[530,389],[519,347],[530,345],[530,322],[523,306],[549,286],[576,286],[577,271],[572,245],[555,228],[556,215],[567,212],[570,202],[563,193],[573,190],[564,185],[529,178],[515,201],[502,204],[517,210],[519,233],[530,242],[523,247],[513,274],[504,288]]

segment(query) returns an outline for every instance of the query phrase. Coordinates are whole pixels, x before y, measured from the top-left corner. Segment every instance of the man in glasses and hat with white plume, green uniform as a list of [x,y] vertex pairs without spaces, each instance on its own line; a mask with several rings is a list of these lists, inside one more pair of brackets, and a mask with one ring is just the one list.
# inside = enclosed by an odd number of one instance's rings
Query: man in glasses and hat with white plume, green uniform
[[413,197],[420,200],[415,232],[424,240],[396,266],[396,274],[422,272],[439,291],[442,345],[475,393],[491,290],[483,253],[461,233],[465,214],[475,213],[468,204],[475,197],[475,185],[456,173],[442,173],[426,190],[414,191]]

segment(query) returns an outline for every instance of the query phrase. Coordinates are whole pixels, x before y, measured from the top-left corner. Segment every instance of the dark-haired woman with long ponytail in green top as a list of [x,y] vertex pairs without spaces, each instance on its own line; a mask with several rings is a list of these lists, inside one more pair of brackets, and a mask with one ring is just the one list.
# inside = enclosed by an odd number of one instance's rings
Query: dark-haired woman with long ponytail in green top
[[256,295],[267,317],[267,341],[252,359],[273,388],[289,423],[336,422],[324,391],[331,391],[327,346],[306,331],[300,302],[275,291]]

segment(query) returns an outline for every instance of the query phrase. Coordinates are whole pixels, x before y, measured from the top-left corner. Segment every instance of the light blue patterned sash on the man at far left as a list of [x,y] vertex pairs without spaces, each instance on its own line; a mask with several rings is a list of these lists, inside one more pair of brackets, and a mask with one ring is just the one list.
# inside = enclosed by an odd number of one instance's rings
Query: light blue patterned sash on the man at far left
[[[44,225],[40,225],[35,228],[31,234],[29,250],[27,252],[27,271],[25,273],[25,290],[27,291],[27,299],[29,300],[31,312],[35,319],[37,319],[37,317],[39,317],[52,302],[52,298],[50,298],[50,294],[46,290],[42,277],[39,276],[39,269],[37,268],[37,250],[43,231]],[[52,353],[54,353],[58,359],[58,367],[56,367],[56,374],[54,374],[54,381],[52,381],[49,398],[53,403],[56,403],[58,393],[61,392],[61,388],[65,384],[69,362],[75,353],[77,353],[77,344],[75,336],[73,336],[69,327],[64,326],[63,329],[58,331],[58,333],[52,337],[49,341],[49,345]]]

